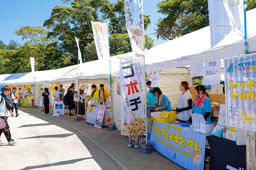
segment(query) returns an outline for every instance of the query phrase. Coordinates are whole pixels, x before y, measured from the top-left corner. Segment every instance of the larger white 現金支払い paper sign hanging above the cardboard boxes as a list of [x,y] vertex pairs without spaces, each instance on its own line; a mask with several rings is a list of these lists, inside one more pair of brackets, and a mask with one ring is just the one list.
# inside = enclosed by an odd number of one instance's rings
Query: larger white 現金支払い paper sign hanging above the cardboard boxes
[[220,84],[220,60],[214,60],[204,63],[204,76],[202,85],[219,85]]

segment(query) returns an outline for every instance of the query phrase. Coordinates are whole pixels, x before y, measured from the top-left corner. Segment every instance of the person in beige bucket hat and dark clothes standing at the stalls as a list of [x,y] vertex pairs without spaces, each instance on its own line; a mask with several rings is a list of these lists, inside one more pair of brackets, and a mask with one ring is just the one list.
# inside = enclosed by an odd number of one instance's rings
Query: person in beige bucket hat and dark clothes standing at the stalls
[[[82,99],[81,96],[87,94],[84,92],[84,89],[86,89],[86,87],[84,84],[82,84],[79,89],[79,95],[78,95],[79,101],[76,102],[76,115],[78,112],[78,115],[81,115],[82,120],[85,120],[85,118],[83,117],[85,115],[85,104],[84,104],[84,99]],[[77,103],[78,103],[78,107],[77,107]],[[77,111],[77,108],[78,108],[78,111]]]

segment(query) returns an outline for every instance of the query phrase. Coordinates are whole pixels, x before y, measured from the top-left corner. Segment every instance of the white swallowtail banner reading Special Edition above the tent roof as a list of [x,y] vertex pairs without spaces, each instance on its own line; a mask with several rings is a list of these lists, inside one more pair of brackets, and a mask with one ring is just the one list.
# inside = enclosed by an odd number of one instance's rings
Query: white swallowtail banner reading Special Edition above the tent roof
[[211,46],[215,46],[230,32],[244,36],[243,1],[208,0]]

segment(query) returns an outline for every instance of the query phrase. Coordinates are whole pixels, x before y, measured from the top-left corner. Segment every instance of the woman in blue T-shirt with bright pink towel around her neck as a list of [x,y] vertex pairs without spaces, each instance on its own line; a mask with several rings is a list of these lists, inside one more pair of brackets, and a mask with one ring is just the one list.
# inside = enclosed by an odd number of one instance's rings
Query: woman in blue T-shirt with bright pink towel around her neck
[[[212,113],[211,100],[207,92],[205,92],[204,85],[197,85],[195,87],[196,98],[192,103],[193,113],[204,116],[205,122],[210,122],[210,114]],[[191,122],[191,117],[189,122]]]

